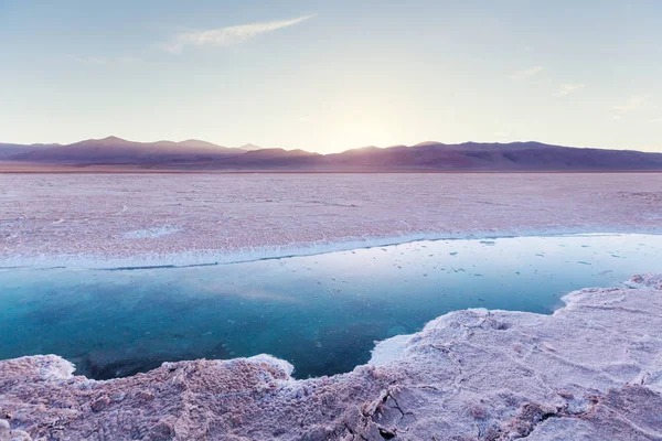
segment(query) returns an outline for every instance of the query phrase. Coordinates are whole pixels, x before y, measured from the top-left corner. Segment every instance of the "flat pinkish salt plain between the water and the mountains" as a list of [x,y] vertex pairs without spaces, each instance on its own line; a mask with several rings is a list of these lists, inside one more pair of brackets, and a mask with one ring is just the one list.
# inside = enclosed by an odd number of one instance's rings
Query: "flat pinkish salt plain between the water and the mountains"
[[0,260],[661,225],[662,173],[0,174]]

